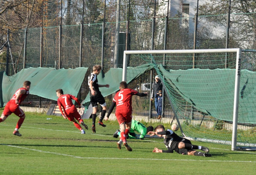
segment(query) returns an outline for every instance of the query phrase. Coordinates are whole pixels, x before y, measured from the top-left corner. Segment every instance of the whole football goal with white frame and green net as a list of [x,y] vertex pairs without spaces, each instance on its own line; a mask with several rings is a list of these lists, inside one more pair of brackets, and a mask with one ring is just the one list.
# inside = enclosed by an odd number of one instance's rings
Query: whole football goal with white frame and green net
[[184,137],[256,150],[254,54],[240,48],[124,51],[123,81],[128,55],[140,57],[160,76]]

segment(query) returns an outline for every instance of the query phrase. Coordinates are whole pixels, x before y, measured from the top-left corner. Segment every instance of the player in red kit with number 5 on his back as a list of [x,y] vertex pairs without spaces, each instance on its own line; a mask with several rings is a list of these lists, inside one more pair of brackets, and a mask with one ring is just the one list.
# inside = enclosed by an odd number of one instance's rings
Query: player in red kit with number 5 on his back
[[117,121],[120,125],[120,140],[117,142],[117,148],[121,149],[121,144],[126,147],[128,151],[132,151],[132,148],[127,144],[126,137],[128,136],[132,124],[132,97],[133,95],[138,95],[140,97],[145,97],[147,93],[139,93],[136,90],[128,89],[127,83],[122,81],[119,86],[120,91],[114,96],[113,102],[109,108],[108,115],[105,120],[108,120],[109,115],[113,111],[114,107],[116,109]]

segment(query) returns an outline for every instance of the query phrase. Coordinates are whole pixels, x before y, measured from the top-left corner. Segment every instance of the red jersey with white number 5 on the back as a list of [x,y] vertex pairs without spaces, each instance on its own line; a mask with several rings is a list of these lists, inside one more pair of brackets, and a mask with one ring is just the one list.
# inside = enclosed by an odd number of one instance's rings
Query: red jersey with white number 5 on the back
[[138,91],[128,88],[117,92],[113,99],[116,102],[116,110],[133,110],[132,97],[137,93]]

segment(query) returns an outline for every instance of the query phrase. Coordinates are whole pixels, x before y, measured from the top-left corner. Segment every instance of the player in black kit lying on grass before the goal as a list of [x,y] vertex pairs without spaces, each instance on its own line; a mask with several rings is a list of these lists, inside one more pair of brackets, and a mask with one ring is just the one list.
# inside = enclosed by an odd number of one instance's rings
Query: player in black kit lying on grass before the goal
[[[148,132],[148,134],[151,134],[151,136],[157,135],[159,137],[164,137],[164,144],[168,149],[168,150],[162,150],[162,149],[154,148],[153,152],[173,153],[173,150],[175,150],[177,153],[184,154],[184,155],[197,155],[197,156],[205,156],[205,157],[212,156],[211,154],[208,153],[209,152],[208,148],[204,146],[192,145],[190,140],[179,137],[170,129],[165,130],[163,125],[158,125],[154,129],[154,131],[150,131]],[[199,152],[194,149],[199,149],[205,152]]]

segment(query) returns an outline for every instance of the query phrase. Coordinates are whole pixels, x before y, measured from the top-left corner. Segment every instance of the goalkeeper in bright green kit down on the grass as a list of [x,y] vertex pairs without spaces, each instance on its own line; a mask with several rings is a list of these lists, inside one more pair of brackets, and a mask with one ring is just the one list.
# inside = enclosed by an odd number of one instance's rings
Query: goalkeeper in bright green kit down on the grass
[[[131,129],[130,132],[128,134],[128,139],[141,139],[143,140],[145,135],[149,132],[149,131],[153,131],[154,128],[153,126],[148,126],[147,128],[140,122],[136,121],[136,120],[132,120],[132,125],[131,125]],[[137,134],[135,134],[134,131],[137,131],[140,133],[140,136],[138,136]],[[120,137],[120,130],[117,129],[117,131],[113,134],[114,138]]]

